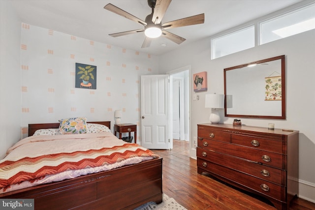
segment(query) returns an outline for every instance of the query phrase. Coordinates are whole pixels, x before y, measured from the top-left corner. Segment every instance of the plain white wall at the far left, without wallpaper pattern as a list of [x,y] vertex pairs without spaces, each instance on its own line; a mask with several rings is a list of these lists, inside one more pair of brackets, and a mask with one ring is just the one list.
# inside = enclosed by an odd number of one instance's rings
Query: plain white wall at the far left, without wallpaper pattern
[[9,1],[0,1],[0,158],[21,137],[21,21]]

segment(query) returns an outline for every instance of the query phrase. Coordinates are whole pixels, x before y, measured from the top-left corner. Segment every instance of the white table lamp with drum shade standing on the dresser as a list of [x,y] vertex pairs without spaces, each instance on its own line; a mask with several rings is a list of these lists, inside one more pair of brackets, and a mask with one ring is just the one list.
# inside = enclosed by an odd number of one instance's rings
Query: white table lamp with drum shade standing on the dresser
[[218,109],[224,108],[224,95],[223,94],[206,94],[205,107],[212,108],[210,114],[210,122],[217,124],[220,122],[221,118]]

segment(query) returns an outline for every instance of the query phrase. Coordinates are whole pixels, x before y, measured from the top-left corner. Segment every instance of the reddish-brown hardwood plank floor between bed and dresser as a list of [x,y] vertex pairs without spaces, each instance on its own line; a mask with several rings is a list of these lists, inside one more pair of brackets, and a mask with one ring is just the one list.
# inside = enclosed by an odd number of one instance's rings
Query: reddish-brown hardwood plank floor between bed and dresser
[[[163,193],[186,209],[275,210],[264,198],[197,174],[196,160],[189,158],[189,142],[174,140],[173,144],[173,150],[152,151],[163,157]],[[296,198],[290,210],[315,210],[315,204]]]

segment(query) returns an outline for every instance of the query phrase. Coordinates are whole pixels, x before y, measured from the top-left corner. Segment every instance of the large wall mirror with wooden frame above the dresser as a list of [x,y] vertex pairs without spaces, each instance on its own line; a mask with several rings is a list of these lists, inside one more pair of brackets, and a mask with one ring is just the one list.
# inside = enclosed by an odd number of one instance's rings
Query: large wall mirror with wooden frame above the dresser
[[224,69],[225,117],[285,119],[285,56]]

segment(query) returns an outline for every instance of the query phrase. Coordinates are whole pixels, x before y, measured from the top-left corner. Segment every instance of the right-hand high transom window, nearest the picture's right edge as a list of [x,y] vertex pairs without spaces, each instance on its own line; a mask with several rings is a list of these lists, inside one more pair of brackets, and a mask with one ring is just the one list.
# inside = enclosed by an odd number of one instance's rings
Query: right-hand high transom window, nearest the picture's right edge
[[259,27],[259,44],[315,29],[315,4],[263,21]]

